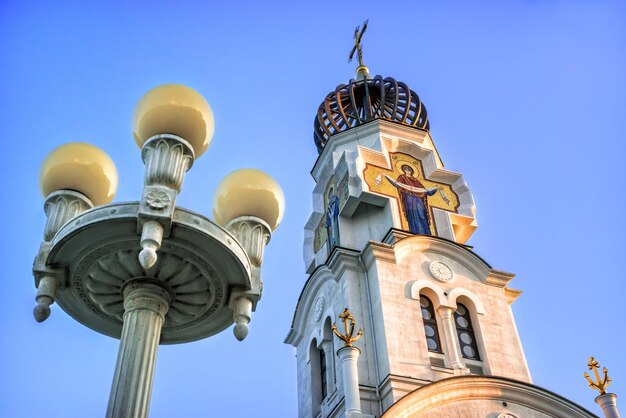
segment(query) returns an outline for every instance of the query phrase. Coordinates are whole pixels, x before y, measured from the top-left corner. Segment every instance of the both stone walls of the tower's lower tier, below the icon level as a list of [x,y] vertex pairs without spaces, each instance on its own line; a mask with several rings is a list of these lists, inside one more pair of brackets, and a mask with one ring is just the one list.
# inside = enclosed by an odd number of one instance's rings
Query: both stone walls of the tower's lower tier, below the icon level
[[[453,278],[434,278],[429,270],[434,261],[449,266]],[[510,274],[492,270],[467,248],[436,237],[409,236],[395,245],[370,242],[362,253],[336,249],[328,267],[318,269],[309,279],[298,306],[297,327],[288,337],[299,338],[301,416],[311,416],[312,412],[311,344],[322,348],[322,342],[328,341],[324,323],[336,322],[345,307],[364,330],[356,345],[362,351],[358,368],[366,413],[380,415],[377,396],[382,398],[385,410],[418,387],[469,374],[470,364],[481,366],[486,375],[530,382],[506,290],[511,278]],[[426,346],[419,306],[420,292],[429,296],[436,308],[454,310],[460,302],[471,311],[481,363],[458,358],[462,364],[454,367],[450,344],[458,344],[456,332],[450,333],[446,342],[444,320],[439,317],[445,366],[431,365],[432,354]],[[341,341],[333,337],[332,344],[336,352]],[[336,412],[343,398],[341,370],[336,360],[333,357],[332,362],[328,361],[327,367],[333,369],[329,379],[333,382],[322,416]]]

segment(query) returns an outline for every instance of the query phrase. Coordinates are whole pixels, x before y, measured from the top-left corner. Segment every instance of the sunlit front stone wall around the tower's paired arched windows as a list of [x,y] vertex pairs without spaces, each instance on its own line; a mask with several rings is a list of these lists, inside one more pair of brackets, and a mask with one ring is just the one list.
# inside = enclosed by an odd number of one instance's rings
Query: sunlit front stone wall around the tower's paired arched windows
[[[370,243],[364,258],[369,266],[371,293],[379,294],[375,305],[380,310],[382,324],[376,327],[384,329],[377,335],[384,335],[379,344],[384,345],[388,362],[383,374],[390,375],[383,391],[385,407],[417,387],[469,374],[466,367],[480,364],[461,358],[465,367],[453,367],[451,344],[458,345],[456,331],[449,333],[446,342],[444,320],[437,308],[449,307],[453,311],[457,302],[471,312],[484,374],[530,382],[505,291],[506,278],[510,280],[512,275],[495,280],[492,277],[495,273],[469,250],[434,237],[408,237],[395,246]],[[429,271],[434,261],[449,266],[453,279],[448,282],[435,279]],[[498,276],[502,274],[497,272]],[[445,357],[443,368],[431,365],[432,354],[426,346],[419,305],[420,292],[435,305]]]

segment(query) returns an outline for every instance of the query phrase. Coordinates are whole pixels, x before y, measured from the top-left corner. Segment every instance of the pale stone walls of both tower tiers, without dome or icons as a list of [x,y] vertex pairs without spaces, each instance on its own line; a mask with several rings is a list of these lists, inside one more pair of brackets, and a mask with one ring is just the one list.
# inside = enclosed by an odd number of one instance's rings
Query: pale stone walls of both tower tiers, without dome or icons
[[[422,160],[427,177],[452,185],[459,196],[459,213],[435,213],[443,238],[412,236],[392,229],[401,228],[397,202],[370,192],[362,180],[365,163],[384,164],[388,152],[414,155]],[[343,178],[346,174],[349,197],[339,219],[342,248],[329,255],[324,245],[315,252],[314,234],[325,216],[328,182],[333,175]],[[482,367],[484,374],[530,382],[509,306],[519,295],[507,288],[513,275],[493,270],[460,244],[477,226],[473,198],[460,174],[443,169],[427,132],[384,121],[351,129],[333,137],[312,175],[317,184],[304,242],[305,266],[311,276],[285,340],[297,348],[300,417],[317,416],[318,409],[322,417],[342,416],[342,371],[334,354],[341,344],[336,337],[329,340],[324,323],[328,319],[338,321],[338,314],[346,307],[356,318],[357,328],[364,331],[355,345],[361,350],[358,375],[366,414],[380,416],[415,389],[467,375],[470,366],[474,371]],[[448,266],[452,278],[433,276],[433,262]],[[435,305],[443,355],[427,349],[420,292]],[[471,312],[481,362],[466,361],[459,355],[451,314],[457,302]],[[328,379],[332,382],[322,405],[314,408],[318,388],[316,378],[311,377],[310,348],[328,348],[329,344],[333,347],[332,361],[328,361],[328,368],[332,368]]]

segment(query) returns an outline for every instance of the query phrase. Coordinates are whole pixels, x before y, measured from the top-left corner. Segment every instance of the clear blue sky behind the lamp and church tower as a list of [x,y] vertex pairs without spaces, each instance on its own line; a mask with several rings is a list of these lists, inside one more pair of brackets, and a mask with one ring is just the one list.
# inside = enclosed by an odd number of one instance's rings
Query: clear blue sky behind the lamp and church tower
[[294,350],[282,341],[306,280],[313,118],[353,77],[347,55],[366,18],[371,73],[420,95],[446,168],[474,194],[468,243],[517,274],[512,309],[534,382],[600,414],[582,376],[595,355],[626,411],[623,1],[3,0],[0,416],[104,414],[118,341],[57,305],[45,323],[32,318],[39,166],[64,142],[91,142],[117,164],[115,200],[138,200],[132,112],[171,82],[203,94],[216,119],[178,203],[209,215],[219,180],[256,167],[282,185],[287,210],[250,335],[162,346],[151,416],[296,416]]

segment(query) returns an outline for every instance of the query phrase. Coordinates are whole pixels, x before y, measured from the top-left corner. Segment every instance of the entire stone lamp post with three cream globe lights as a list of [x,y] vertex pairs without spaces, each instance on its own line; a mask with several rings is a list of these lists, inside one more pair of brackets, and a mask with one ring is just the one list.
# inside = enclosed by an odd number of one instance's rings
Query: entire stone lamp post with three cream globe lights
[[248,334],[284,197],[269,175],[243,169],[218,186],[215,222],[177,207],[213,129],[211,108],[194,90],[169,84],[146,93],[134,115],[145,164],[139,202],[110,203],[117,172],[97,147],[65,144],[43,163],[47,223],[33,267],[35,319],[48,318],[56,302],[120,339],[108,417],[148,415],[159,344],[199,340],[233,323],[238,340]]

